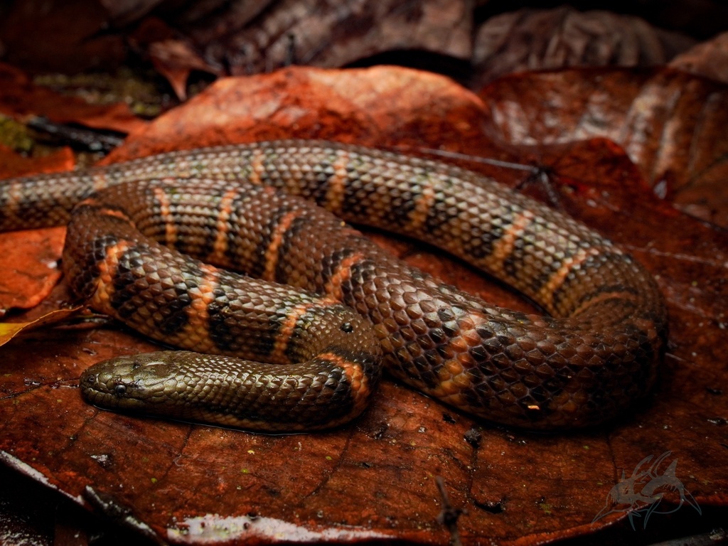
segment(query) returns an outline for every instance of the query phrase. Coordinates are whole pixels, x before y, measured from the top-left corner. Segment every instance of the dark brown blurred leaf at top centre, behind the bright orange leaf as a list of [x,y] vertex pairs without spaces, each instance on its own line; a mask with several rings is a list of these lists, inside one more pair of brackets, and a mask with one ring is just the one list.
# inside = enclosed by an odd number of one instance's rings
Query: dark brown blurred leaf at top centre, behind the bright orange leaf
[[202,52],[209,70],[264,73],[288,66],[345,66],[392,50],[458,59],[472,53],[464,0],[205,2],[156,13]]

